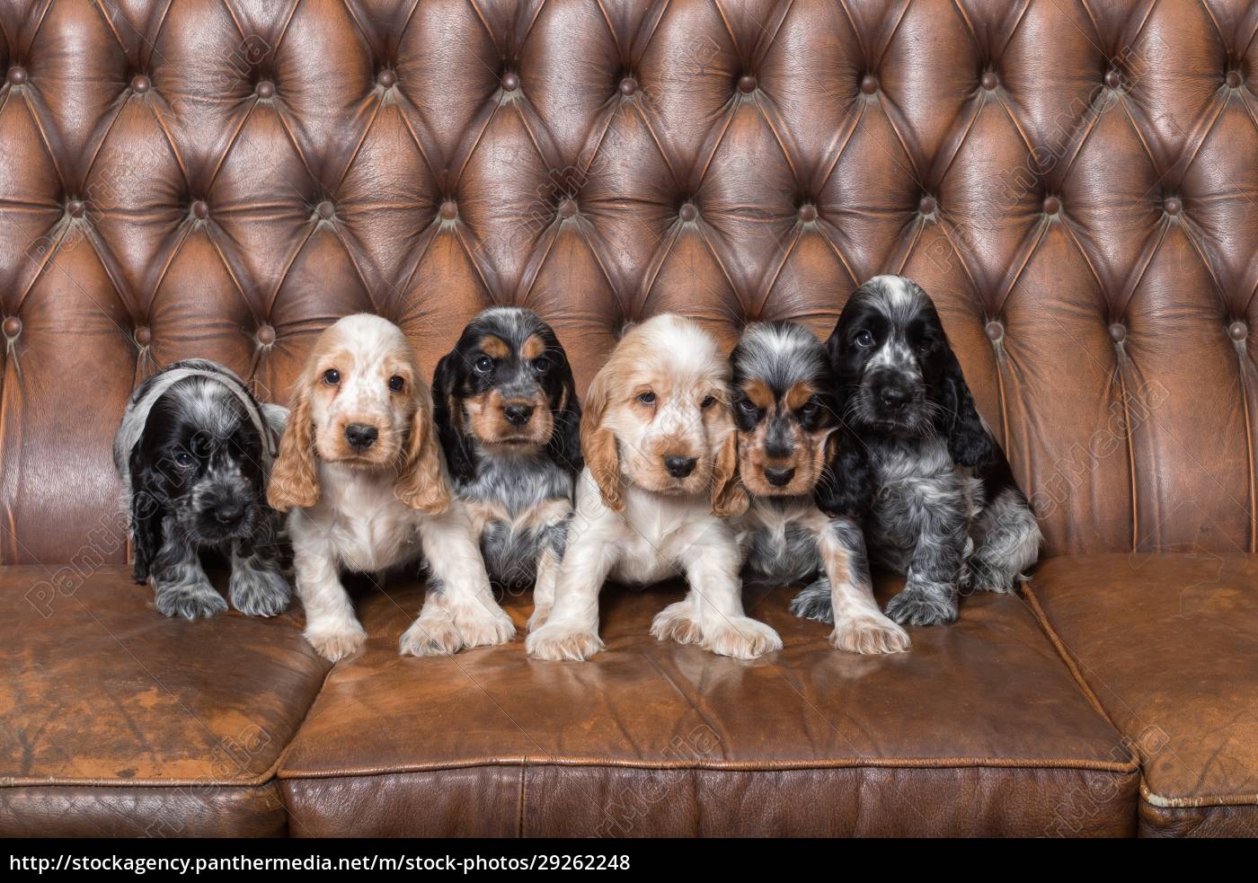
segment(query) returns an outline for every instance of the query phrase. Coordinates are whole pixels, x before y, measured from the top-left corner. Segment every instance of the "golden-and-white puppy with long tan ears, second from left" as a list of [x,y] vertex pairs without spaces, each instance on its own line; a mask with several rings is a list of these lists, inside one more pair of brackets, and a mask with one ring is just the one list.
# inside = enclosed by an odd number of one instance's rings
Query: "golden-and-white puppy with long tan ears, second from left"
[[431,413],[398,326],[357,314],[320,335],[293,394],[267,499],[291,511],[306,639],[332,662],[366,640],[341,570],[382,571],[421,552],[428,597],[401,653],[455,653],[515,634],[493,600],[467,513],[452,503]]

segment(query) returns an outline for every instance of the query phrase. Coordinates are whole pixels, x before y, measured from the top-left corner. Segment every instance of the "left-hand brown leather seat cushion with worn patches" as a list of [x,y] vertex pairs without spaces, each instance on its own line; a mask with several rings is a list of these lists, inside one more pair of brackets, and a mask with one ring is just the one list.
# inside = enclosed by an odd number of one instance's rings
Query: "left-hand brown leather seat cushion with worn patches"
[[274,784],[327,665],[301,605],[167,619],[122,567],[0,569],[0,834],[286,834]]

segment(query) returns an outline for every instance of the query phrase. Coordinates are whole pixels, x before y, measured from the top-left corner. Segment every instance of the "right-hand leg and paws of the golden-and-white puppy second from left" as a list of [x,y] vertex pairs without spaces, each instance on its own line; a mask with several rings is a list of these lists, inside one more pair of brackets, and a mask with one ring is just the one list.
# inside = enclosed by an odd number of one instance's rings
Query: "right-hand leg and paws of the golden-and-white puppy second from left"
[[401,652],[416,655],[454,653],[459,648],[452,649],[450,624],[462,647],[511,640],[516,625],[493,600],[489,575],[463,508],[455,504],[440,516],[421,518],[419,537],[431,576],[424,609],[403,635]]

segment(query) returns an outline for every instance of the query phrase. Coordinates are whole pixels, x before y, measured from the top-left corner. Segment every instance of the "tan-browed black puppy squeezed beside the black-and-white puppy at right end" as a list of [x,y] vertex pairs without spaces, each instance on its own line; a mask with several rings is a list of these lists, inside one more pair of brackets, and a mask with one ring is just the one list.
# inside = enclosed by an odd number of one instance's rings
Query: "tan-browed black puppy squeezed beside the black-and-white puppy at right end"
[[806,591],[835,611],[830,643],[842,650],[908,649],[908,635],[873,596],[860,526],[873,475],[863,448],[839,423],[825,347],[803,326],[755,323],[730,364],[738,475],[751,494],[735,525],[749,570],[810,581]]

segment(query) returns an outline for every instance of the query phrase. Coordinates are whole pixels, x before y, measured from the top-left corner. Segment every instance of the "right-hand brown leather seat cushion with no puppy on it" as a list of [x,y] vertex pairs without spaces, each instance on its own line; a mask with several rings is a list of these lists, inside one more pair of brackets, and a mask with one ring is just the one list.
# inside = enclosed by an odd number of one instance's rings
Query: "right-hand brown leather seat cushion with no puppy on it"
[[1142,833],[1258,834],[1255,586],[1253,556],[1209,551],[1054,558],[1035,574],[1047,628],[1141,756]]

